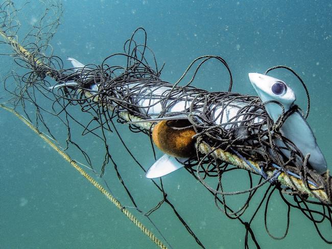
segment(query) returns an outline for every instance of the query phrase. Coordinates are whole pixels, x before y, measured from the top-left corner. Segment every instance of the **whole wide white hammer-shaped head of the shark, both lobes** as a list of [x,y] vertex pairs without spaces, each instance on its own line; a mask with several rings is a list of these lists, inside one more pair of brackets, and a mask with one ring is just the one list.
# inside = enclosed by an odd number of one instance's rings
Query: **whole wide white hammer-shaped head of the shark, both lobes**
[[[282,105],[284,111],[287,112],[294,104],[296,99],[295,93],[283,81],[260,73],[249,73],[249,79],[258,96],[262,99],[266,111],[274,122],[276,122],[278,117],[282,114],[280,105]],[[277,103],[266,103],[269,101]],[[316,142],[315,135],[299,112],[294,112],[290,115],[282,124],[280,131],[284,137],[294,143],[302,152],[303,156],[310,154],[309,163],[313,169],[318,173],[324,173],[327,170],[326,160]],[[283,143],[278,140],[276,143],[284,146]],[[287,150],[282,150],[282,152],[285,156],[290,156]]]

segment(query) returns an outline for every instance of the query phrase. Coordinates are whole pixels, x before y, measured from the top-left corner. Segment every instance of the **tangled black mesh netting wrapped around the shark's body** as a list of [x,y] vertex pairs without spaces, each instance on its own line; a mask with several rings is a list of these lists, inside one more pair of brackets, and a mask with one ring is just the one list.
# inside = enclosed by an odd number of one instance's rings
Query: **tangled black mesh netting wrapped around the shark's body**
[[[11,2],[6,1],[5,3],[7,4],[1,6],[1,15],[6,17],[3,19],[2,27],[7,27],[7,29],[3,30],[7,35],[13,37],[16,34],[15,32],[17,32],[16,28],[12,28],[14,18],[11,18],[15,11],[11,9],[12,5],[9,4]],[[57,27],[57,24],[58,22],[53,22],[50,27]],[[14,34],[10,33],[13,30],[15,30]],[[34,30],[38,29],[35,28]],[[106,153],[100,176],[103,176],[109,163],[114,165],[120,182],[137,209],[134,197],[126,187],[109,152],[109,143],[105,132],[115,131],[121,139],[120,133],[117,132],[114,126],[114,121],[128,123],[128,121],[131,121],[131,117],[145,120],[175,115],[182,115],[183,117],[185,115],[188,120],[187,127],[193,128],[196,132],[197,144],[196,155],[184,162],[185,168],[211,192],[216,206],[227,217],[238,219],[245,226],[246,248],[249,246],[250,237],[255,245],[259,247],[251,228],[251,223],[263,205],[265,205],[265,226],[271,237],[275,239],[286,237],[289,230],[290,209],[296,208],[313,222],[319,236],[326,243],[332,243],[332,241],[325,238],[325,235],[318,227],[323,221],[328,222],[332,226],[330,205],[332,200],[331,177],[328,176],[328,172],[324,175],[318,175],[308,163],[309,156],[303,155],[294,143],[280,132],[283,122],[292,113],[300,110],[298,106],[293,106],[290,110],[283,111],[278,120],[273,122],[260,98],[231,92],[233,84],[232,74],[226,61],[219,56],[202,56],[195,59],[175,84],[162,81],[160,76],[163,66],[158,68],[154,54],[147,46],[147,34],[143,28],[138,28],[131,38],[125,42],[124,53],[113,54],[107,57],[100,65],[88,64],[83,68],[64,69],[63,62],[59,57],[53,56],[52,53],[51,56],[45,56],[49,40],[55,31],[56,29],[52,29],[46,32],[48,35],[45,37],[49,38],[43,40],[43,45],[40,44],[42,40],[40,36],[44,35],[41,35],[40,32],[29,33],[27,39],[23,40],[22,43],[29,54],[22,53],[20,47],[16,43],[11,42],[14,48],[15,62],[29,70],[23,76],[14,74],[6,80],[6,89],[13,96],[12,103],[15,107],[23,107],[23,111],[26,110],[27,102],[33,103],[36,108],[36,116],[32,118],[26,112],[27,117],[30,120],[35,119],[37,125],[42,124],[51,136],[53,136],[52,131],[45,122],[44,114],[49,113],[57,116],[67,127],[67,147],[69,144],[74,144],[74,146],[78,147],[91,169],[93,167],[89,155],[71,138],[68,120],[72,119],[78,122],[83,128],[83,135],[90,133],[102,139]],[[143,44],[135,41],[134,38],[137,36],[137,33],[143,34]],[[31,41],[32,37],[35,37],[36,42]],[[27,43],[28,40],[29,42]],[[10,42],[7,41],[6,43]],[[119,57],[123,59],[123,65],[114,66],[113,61]],[[229,73],[229,89],[227,92],[208,92],[193,86],[192,83],[200,68],[209,60],[217,60],[226,67]],[[153,62],[153,66],[151,66],[149,61]],[[284,66],[279,67],[287,68]],[[274,68],[268,69],[267,72],[272,69]],[[307,93],[307,89],[299,76],[292,69],[287,69],[291,70],[301,81]],[[13,77],[18,85],[14,90],[11,90],[8,84],[11,83],[9,80],[13,79]],[[184,82],[188,78],[189,80]],[[54,80],[56,85],[54,85]],[[39,105],[36,95],[40,94],[52,101],[52,110]],[[307,96],[309,97],[309,94]],[[182,108],[178,108],[179,103],[181,103]],[[92,115],[90,121],[82,123],[76,120],[68,109],[68,106],[73,105],[80,106],[83,112],[90,113]],[[308,108],[305,116],[309,114],[309,108],[310,102],[308,98]],[[236,114],[228,119],[225,113],[230,109],[236,110]],[[128,115],[122,115],[124,113]],[[132,132],[143,132],[151,137],[153,126],[147,129],[140,126],[139,123],[130,123],[129,129]],[[101,130],[101,133],[96,132],[96,130]],[[282,141],[284,146],[278,145],[280,143],[277,144],[277,140]],[[121,141],[123,142],[122,139]],[[198,149],[201,143],[209,146],[209,153],[203,154]],[[123,145],[141,169],[146,171],[124,142]],[[213,152],[218,149],[235,154],[246,160],[248,164],[250,164],[249,160],[259,162],[260,171],[255,172],[257,175],[260,175],[258,182],[254,183],[252,172],[248,171],[249,188],[247,190],[225,192],[223,182],[227,178],[226,175],[239,168],[233,167],[217,158]],[[288,150],[290,157],[284,156],[283,150]],[[278,166],[277,169],[276,165]],[[271,170],[271,168],[275,171],[275,175],[268,177],[266,172]],[[276,180],[281,172],[296,176],[296,178],[304,182],[307,188],[310,188],[309,185],[321,188],[327,195],[327,201],[313,201],[308,194],[297,191],[297,189],[281,186]],[[156,207],[146,212],[145,215],[149,216],[161,205],[168,204],[189,234],[195,238],[201,247],[204,247],[193,230],[189,228],[180,216],[175,206],[169,201],[167,193],[163,189],[162,180],[160,182],[152,181],[162,192],[163,197]],[[260,202],[251,214],[249,221],[245,221],[242,215],[249,207],[250,201],[258,188],[265,184],[268,184],[265,194],[260,198]],[[278,191],[280,198],[288,206],[287,229],[281,237],[273,236],[269,232],[266,222],[269,200],[275,191]],[[243,205],[234,208],[232,205],[228,205],[226,196],[235,194],[246,194],[246,197]],[[293,195],[293,202],[290,202],[286,195]]]

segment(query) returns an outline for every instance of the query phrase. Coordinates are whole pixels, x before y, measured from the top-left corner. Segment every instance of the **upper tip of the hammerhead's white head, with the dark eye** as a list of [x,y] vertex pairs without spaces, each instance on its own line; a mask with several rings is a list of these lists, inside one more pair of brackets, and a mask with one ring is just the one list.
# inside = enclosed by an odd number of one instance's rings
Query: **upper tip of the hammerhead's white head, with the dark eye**
[[[293,105],[296,96],[294,91],[286,83],[266,74],[251,72],[248,75],[252,86],[263,103],[269,101],[278,102],[283,106],[285,112]],[[276,103],[265,104],[265,109],[274,122],[282,114],[280,105]]]

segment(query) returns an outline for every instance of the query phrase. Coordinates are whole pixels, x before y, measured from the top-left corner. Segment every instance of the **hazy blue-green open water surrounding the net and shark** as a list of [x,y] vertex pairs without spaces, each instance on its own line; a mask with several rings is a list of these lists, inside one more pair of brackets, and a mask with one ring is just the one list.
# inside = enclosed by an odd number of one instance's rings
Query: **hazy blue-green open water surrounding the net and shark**
[[[17,6],[22,3],[15,1]],[[232,91],[255,95],[249,72],[264,73],[275,65],[292,67],[309,89],[311,112],[307,121],[332,170],[331,1],[68,0],[62,4],[61,25],[51,44],[54,55],[59,56],[67,68],[71,67],[65,60],[67,57],[83,64],[100,64],[110,54],[123,52],[124,42],[138,27],[146,29],[148,46],[155,53],[158,65],[165,62],[161,78],[167,82],[176,82],[195,58],[218,55],[232,71]],[[19,14],[22,34],[37,22],[44,8],[41,1],[23,7]],[[10,47],[1,44],[0,53],[10,53]],[[25,72],[7,56],[0,57],[0,65],[2,82],[12,69]],[[276,70],[271,75],[291,86],[297,95],[296,103],[305,110],[306,96],[300,82],[286,70]],[[227,71],[218,63],[207,63],[194,86],[227,91]],[[0,97],[1,103],[10,97],[3,87]],[[52,104],[47,99],[41,99],[41,103]],[[27,108],[33,116],[33,106]],[[81,120],[87,117],[78,106],[68,108]],[[89,117],[85,120],[87,123]],[[65,146],[65,128],[56,118],[49,117],[47,121]],[[155,159],[149,137],[132,133],[125,124],[116,127],[139,162],[145,168],[152,165]],[[77,124],[73,123],[70,128],[75,141],[100,166],[105,154],[101,141],[93,136],[81,136],[83,128]],[[105,196],[14,115],[2,109],[0,129],[0,248],[155,248]],[[145,178],[116,134],[106,136],[129,191],[139,208],[149,211],[161,201],[160,192]],[[83,162],[79,152],[69,150],[68,153]],[[161,155],[158,151],[157,157]],[[246,172],[236,171],[232,179],[225,179],[225,190],[248,188]],[[106,167],[100,182],[105,184],[104,180],[113,195],[161,238],[149,220],[131,208],[113,165]],[[163,187],[206,248],[244,247],[243,225],[227,218],[215,206],[213,196],[186,170],[163,177]],[[251,212],[263,194],[264,189],[257,191],[248,208]],[[239,198],[233,198],[232,204],[236,206],[239,202],[240,205],[243,198]],[[268,208],[271,233],[281,236],[286,229],[287,206],[278,194],[273,194]],[[244,215],[245,220],[250,219],[249,214]],[[150,218],[171,245],[169,247],[199,248],[168,206],[162,205]],[[332,248],[298,210],[291,210],[289,232],[283,240],[274,240],[267,234],[264,209],[259,210],[251,228],[262,248]],[[331,238],[332,228],[328,224],[320,228]],[[249,245],[254,248],[252,242]]]

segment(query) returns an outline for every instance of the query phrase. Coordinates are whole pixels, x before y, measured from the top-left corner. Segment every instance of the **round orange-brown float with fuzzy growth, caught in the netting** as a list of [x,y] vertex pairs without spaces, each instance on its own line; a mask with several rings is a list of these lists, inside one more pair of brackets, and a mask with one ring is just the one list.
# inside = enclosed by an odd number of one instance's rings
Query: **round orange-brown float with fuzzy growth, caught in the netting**
[[[157,123],[152,132],[152,139],[156,146],[164,153],[174,157],[191,157],[195,155],[196,134],[187,120],[163,120]],[[182,129],[179,129],[182,128]]]

